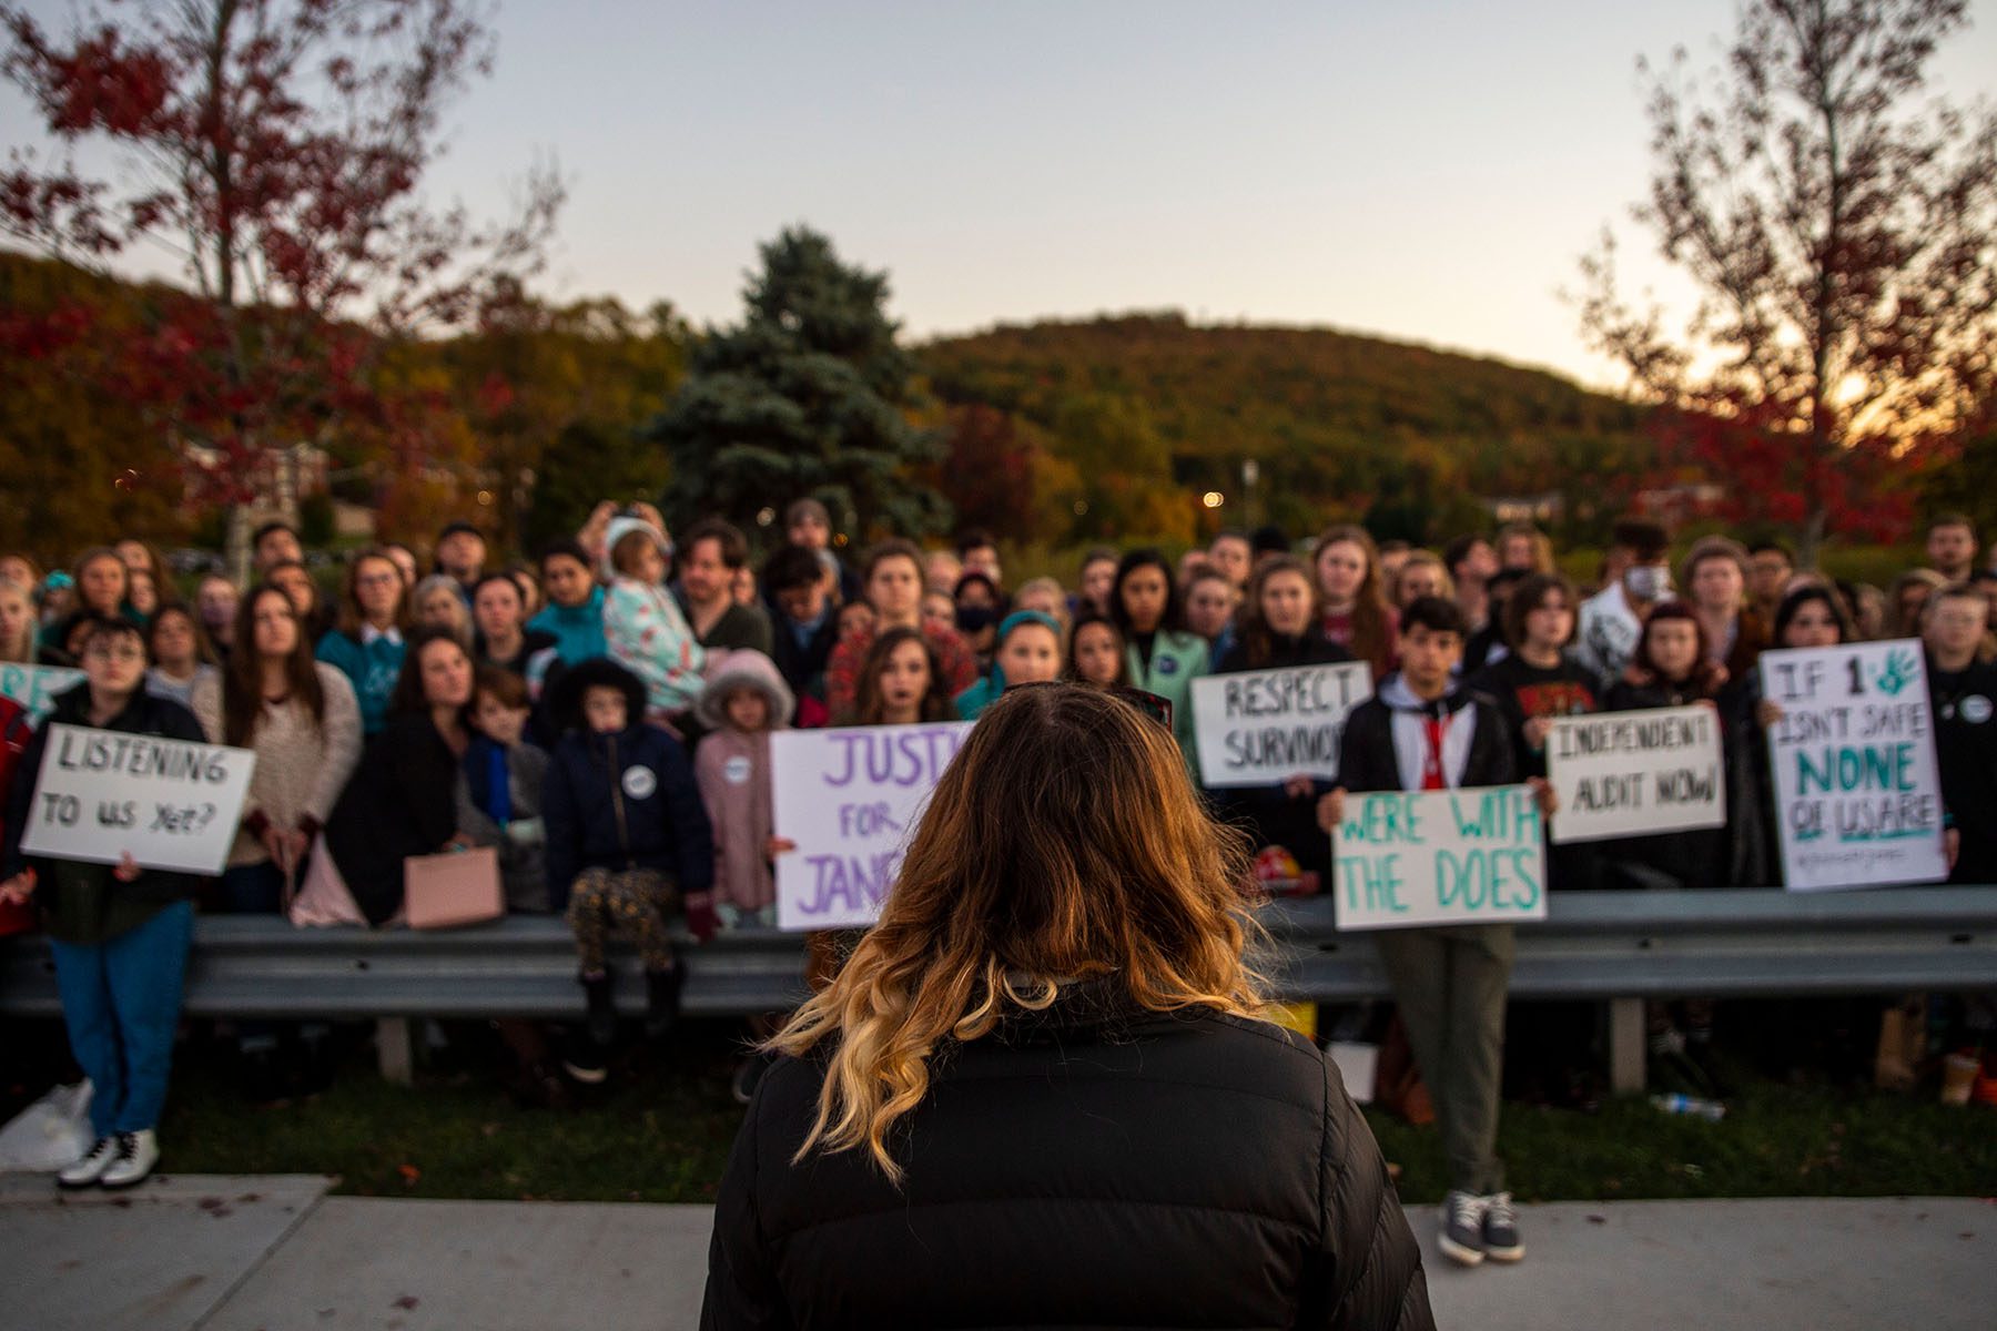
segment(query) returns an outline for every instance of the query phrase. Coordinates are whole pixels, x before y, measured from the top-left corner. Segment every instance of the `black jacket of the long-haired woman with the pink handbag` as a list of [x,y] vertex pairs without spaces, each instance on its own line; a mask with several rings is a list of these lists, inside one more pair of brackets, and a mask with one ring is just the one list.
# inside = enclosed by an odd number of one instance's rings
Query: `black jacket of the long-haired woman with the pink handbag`
[[401,862],[457,836],[457,754],[429,712],[391,714],[326,820],[326,848],[369,924],[401,906]]

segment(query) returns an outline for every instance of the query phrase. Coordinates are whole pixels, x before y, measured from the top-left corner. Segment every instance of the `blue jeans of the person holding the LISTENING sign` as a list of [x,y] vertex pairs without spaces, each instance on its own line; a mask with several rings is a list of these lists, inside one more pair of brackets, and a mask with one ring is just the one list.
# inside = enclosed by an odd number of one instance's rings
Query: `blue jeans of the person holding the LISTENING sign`
[[194,942],[194,902],[94,944],[48,940],[70,1052],[90,1076],[100,1137],[160,1123],[180,1026],[180,984]]

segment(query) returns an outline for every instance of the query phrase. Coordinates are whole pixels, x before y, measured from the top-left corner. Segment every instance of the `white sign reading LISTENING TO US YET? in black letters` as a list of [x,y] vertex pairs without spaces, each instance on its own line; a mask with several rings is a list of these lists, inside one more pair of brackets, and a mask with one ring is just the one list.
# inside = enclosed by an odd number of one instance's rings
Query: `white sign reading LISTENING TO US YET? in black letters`
[[158,734],[48,728],[22,850],[58,860],[220,874],[256,754]]

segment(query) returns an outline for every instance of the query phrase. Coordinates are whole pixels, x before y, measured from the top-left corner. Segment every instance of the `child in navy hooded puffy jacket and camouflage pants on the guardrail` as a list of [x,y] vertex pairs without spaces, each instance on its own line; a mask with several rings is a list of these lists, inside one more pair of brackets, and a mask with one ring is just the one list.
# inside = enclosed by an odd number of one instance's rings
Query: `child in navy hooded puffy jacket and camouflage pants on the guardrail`
[[[707,900],[715,844],[693,764],[667,730],[645,722],[645,684],[613,661],[585,661],[561,676],[561,740],[541,788],[547,896],[575,932],[589,1038],[617,1032],[603,944],[629,932],[645,962],[645,1034],[663,1036],[685,974],[667,934],[681,894]],[[711,926],[695,922],[695,928]]]

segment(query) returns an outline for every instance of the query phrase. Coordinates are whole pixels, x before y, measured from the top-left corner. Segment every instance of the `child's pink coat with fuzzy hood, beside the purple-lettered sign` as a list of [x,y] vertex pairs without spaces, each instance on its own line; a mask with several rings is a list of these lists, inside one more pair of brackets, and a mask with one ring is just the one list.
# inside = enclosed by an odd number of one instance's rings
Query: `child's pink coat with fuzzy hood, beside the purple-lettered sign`
[[[737,688],[755,688],[769,702],[769,726],[737,730],[727,716],[727,698]],[[795,698],[777,665],[763,653],[739,651],[707,682],[695,708],[709,726],[693,754],[693,778],[715,830],[715,894],[737,910],[763,910],[777,900],[777,880],[769,870],[769,838],[775,832],[771,806],[769,734],[789,724]]]

